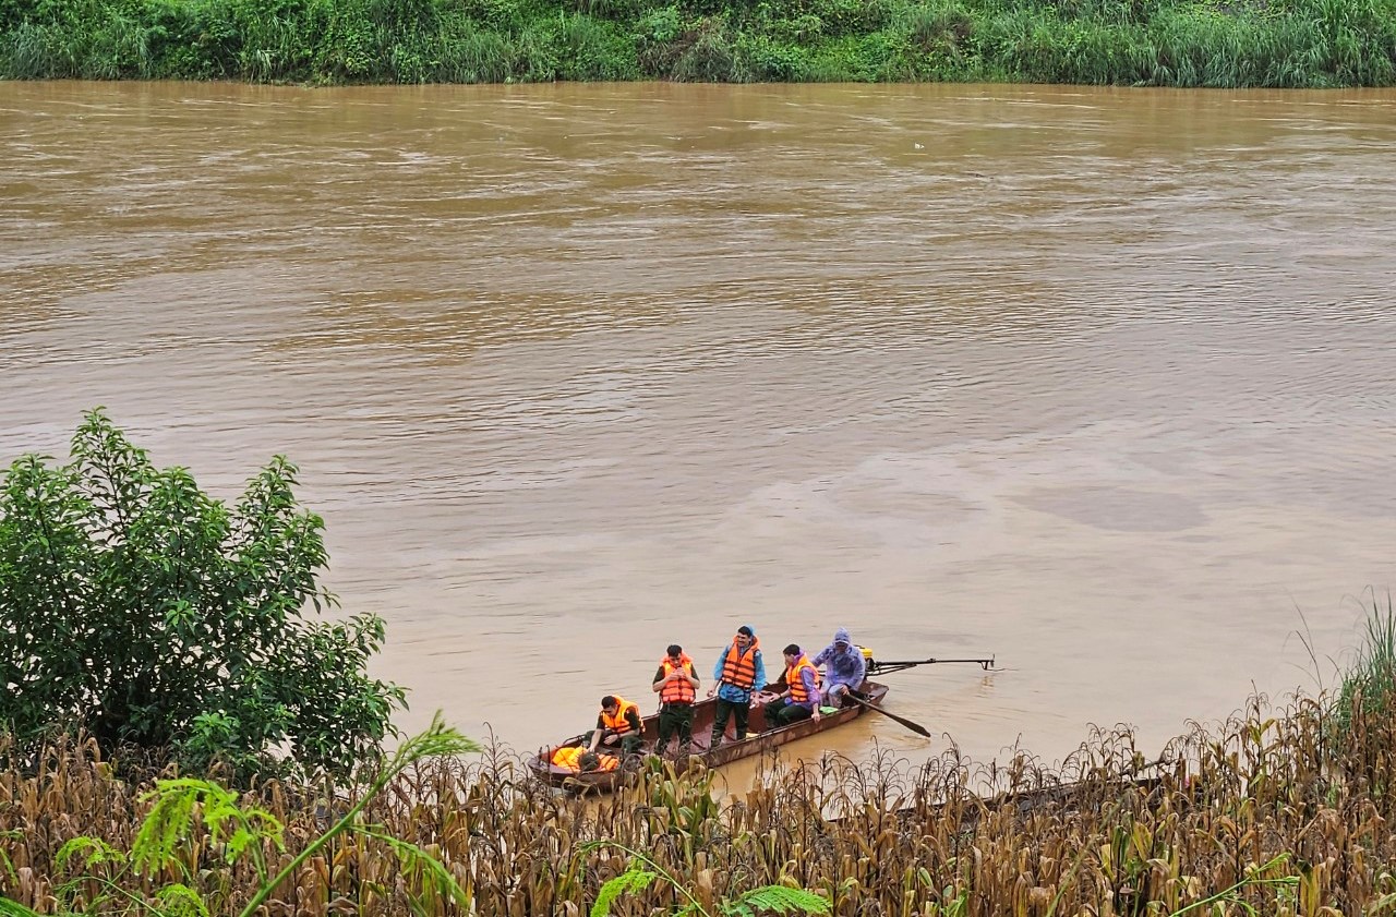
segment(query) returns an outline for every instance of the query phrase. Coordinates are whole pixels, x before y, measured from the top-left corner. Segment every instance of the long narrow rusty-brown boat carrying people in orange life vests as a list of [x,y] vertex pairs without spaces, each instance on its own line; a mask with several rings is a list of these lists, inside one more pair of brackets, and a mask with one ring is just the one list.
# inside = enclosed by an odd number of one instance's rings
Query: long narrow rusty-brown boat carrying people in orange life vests
[[[879,706],[882,703],[882,698],[886,696],[886,685],[877,681],[864,681],[861,695],[868,703]],[[768,685],[765,691],[757,694],[755,701],[761,701],[764,698],[769,699],[773,696],[775,691]],[[824,713],[818,722],[808,719],[790,723],[789,726],[776,726],[771,729],[766,724],[765,703],[752,703],[751,713],[747,717],[747,738],[738,743],[736,738],[736,724],[732,720],[727,720],[726,736],[723,736],[722,743],[719,743],[716,748],[711,748],[708,743],[712,738],[712,719],[716,706],[718,702],[713,698],[706,698],[694,703],[694,740],[690,754],[699,758],[709,768],[720,768],[725,763],[738,761],[741,758],[759,755],[765,751],[776,748],[778,745],[793,743],[799,738],[807,738],[815,733],[843,726],[867,712],[866,706],[852,703],[836,709],[833,713]],[[539,750],[539,754],[528,761],[528,766],[539,779],[551,786],[584,793],[610,793],[621,786],[635,772],[639,759],[644,755],[662,754],[674,756],[677,752],[677,741],[674,740],[670,741],[670,748],[656,752],[655,743],[659,740],[658,713],[644,717],[642,724],[644,745],[641,754],[624,758],[621,761],[621,766],[616,770],[591,770],[586,773],[577,773],[575,770],[558,768],[553,763],[553,752],[557,748],[582,745],[585,744],[585,736],[574,736],[567,741],[558,743],[557,745]],[[602,751],[604,751],[604,748]]]

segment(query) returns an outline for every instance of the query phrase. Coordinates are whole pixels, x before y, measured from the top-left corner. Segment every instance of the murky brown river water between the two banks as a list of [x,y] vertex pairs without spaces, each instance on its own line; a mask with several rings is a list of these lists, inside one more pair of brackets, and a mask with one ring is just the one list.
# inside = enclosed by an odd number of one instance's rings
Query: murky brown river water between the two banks
[[409,729],[751,622],[997,655],[845,752],[1156,748],[1392,585],[1393,151],[1392,92],[0,84],[0,459],[288,454]]

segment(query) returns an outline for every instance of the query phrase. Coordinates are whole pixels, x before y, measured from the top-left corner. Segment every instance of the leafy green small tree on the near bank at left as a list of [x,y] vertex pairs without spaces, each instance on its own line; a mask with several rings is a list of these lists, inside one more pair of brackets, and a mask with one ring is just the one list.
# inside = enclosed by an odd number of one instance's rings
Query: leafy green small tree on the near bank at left
[[195,769],[345,776],[395,734],[403,689],[366,673],[383,620],[302,617],[335,599],[285,458],[229,509],[99,409],[70,465],[27,455],[0,484],[0,726],[20,740],[84,727]]

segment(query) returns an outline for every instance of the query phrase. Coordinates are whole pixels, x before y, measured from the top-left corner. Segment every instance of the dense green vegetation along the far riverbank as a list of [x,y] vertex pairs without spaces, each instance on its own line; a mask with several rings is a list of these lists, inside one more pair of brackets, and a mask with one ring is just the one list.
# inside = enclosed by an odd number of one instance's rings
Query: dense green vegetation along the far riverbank
[[0,0],[0,75],[1396,84],[1396,0]]

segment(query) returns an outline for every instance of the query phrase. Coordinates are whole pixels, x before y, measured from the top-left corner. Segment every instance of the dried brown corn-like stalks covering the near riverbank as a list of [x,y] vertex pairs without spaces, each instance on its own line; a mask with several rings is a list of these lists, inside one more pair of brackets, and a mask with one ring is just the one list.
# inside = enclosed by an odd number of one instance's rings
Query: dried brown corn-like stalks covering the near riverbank
[[[752,789],[653,759],[614,797],[556,796],[507,750],[405,769],[367,801],[381,835],[353,835],[296,864],[360,796],[269,783],[248,801],[286,825],[261,850],[288,878],[265,914],[582,914],[627,854],[674,877],[614,897],[616,914],[697,902],[719,913],[751,889],[822,896],[843,916],[1266,914],[1318,917],[1396,909],[1396,627],[1374,607],[1368,645],[1332,695],[1263,698],[1226,722],[1194,724],[1161,750],[1096,730],[1058,765],[1027,754],[976,763],[953,747],[920,765],[886,755],[778,759]],[[113,776],[94,743],[36,759],[0,747],[0,890],[39,913],[82,910],[95,885],[59,851],[78,835],[130,850],[148,803]],[[383,837],[431,853],[469,899]],[[258,886],[205,833],[180,850],[183,878],[214,913],[239,913]],[[655,871],[651,870],[651,871]],[[614,892],[614,885],[611,886]],[[110,903],[107,907],[112,907]],[[105,910],[102,913],[121,913]],[[697,913],[697,911],[695,911]]]

